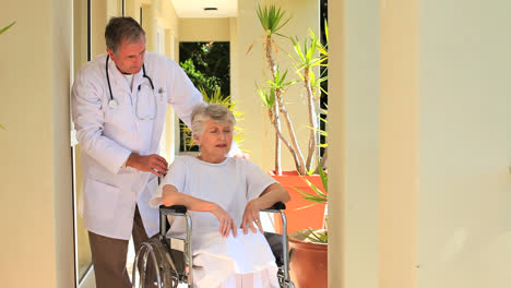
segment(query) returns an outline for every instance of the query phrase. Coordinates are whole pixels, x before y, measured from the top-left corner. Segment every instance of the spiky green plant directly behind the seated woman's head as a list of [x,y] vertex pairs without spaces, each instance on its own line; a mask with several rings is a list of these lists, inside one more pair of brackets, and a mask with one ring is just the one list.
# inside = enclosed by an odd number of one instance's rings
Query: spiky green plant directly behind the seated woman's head
[[[235,110],[235,106],[236,106],[236,103],[231,103],[230,101],[230,96],[224,96],[222,95],[222,91],[221,88],[217,88],[215,89],[215,92],[211,95],[207,95],[207,92],[205,91],[204,87],[199,87],[199,91],[201,92],[202,94],[202,98],[204,99],[205,103],[209,103],[209,104],[218,104],[218,105],[222,105],[224,107],[227,107],[234,115],[235,119],[236,119],[236,122],[239,122],[239,121],[242,121],[243,118],[242,118],[242,112],[240,111],[237,111]],[[192,137],[192,132],[190,130],[190,128],[188,128],[185,123],[181,123],[181,131],[183,132],[185,134],[185,139],[186,139],[186,142],[185,142],[185,145],[187,147],[192,147],[195,145],[195,142],[193,141],[193,137]],[[243,132],[243,129],[240,128],[239,125],[235,125],[234,128],[234,141],[236,142],[236,144],[238,144],[238,146],[241,145],[241,143],[243,142],[245,140],[245,132]]]

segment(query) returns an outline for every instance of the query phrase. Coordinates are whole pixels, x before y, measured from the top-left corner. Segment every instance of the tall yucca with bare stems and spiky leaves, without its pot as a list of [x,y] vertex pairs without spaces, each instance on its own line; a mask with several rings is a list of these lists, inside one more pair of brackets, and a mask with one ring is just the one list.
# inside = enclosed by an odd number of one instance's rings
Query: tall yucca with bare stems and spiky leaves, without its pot
[[[326,77],[320,75],[317,76],[313,72],[313,68],[322,65],[326,60],[328,51],[326,45],[321,45],[318,37],[309,29],[309,36],[305,38],[302,45],[298,38],[290,38],[295,55],[290,58],[295,62],[296,73],[299,75],[306,89],[306,97],[308,104],[308,120],[310,127],[310,136],[308,143],[307,158],[304,157],[304,153],[298,145],[298,140],[293,125],[293,120],[286,109],[284,101],[284,93],[287,87],[297,81],[286,81],[287,71],[281,73],[278,65],[274,61],[274,52],[277,52],[277,46],[274,36],[282,36],[280,31],[289,22],[290,17],[285,15],[285,12],[275,5],[269,8],[258,7],[258,17],[264,34],[260,36],[264,39],[263,49],[265,59],[268,62],[268,69],[271,72],[271,79],[268,80],[268,87],[258,88],[258,94],[263,100],[263,105],[269,110],[268,115],[270,121],[275,129],[275,173],[282,175],[281,168],[281,142],[287,147],[292,154],[296,170],[299,175],[306,175],[309,171],[313,171],[312,164],[314,161],[318,152],[318,140],[319,140],[319,128],[317,117],[317,103],[321,92],[321,82],[325,81]],[[287,37],[286,37],[287,38]],[[250,51],[254,43],[249,47]],[[281,116],[284,119],[284,123],[288,131],[288,139],[284,135],[281,128]],[[326,159],[324,159],[326,160]]]

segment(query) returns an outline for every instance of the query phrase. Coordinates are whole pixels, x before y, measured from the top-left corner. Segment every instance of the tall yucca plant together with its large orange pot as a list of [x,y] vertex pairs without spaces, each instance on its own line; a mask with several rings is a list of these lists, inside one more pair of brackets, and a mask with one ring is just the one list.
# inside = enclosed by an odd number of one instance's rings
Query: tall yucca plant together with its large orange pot
[[[308,207],[306,209],[297,209],[306,206],[307,200],[301,199],[294,188],[300,190],[310,190],[307,181],[316,187],[322,187],[319,176],[311,176],[313,171],[318,171],[316,164],[318,163],[319,148],[318,139],[324,133],[319,129],[319,95],[321,93],[320,83],[325,81],[323,75],[314,73],[316,68],[325,65],[328,58],[326,45],[322,45],[318,37],[309,29],[308,34],[300,43],[298,37],[287,37],[281,34],[282,28],[289,23],[290,17],[286,16],[285,11],[270,5],[268,8],[258,7],[257,10],[259,21],[263,28],[262,45],[264,50],[264,60],[269,71],[269,79],[264,86],[258,87],[259,97],[262,99],[263,106],[266,108],[270,122],[275,130],[275,169],[273,177],[287,189],[292,200],[287,205],[288,231],[294,232],[311,227],[313,229],[321,228],[324,203]],[[328,35],[328,29],[326,29]],[[288,71],[283,71],[276,61],[275,53],[277,52],[276,37],[289,40],[293,46],[294,53],[289,55],[290,60],[295,64],[295,73],[297,80],[288,80]],[[252,49],[258,39],[249,47],[248,52]],[[290,85],[301,84],[305,89],[307,101],[307,119],[309,127],[309,135],[307,148],[302,149],[299,145],[293,117],[286,108],[287,95],[286,91]],[[295,116],[296,117],[296,116]],[[300,116],[301,117],[301,116]],[[285,135],[287,131],[287,136]],[[296,170],[283,171],[281,166],[281,144],[287,148],[294,159]],[[302,153],[307,152],[307,154]],[[326,153],[320,159],[322,165],[326,163]],[[324,192],[324,191],[323,191]],[[276,230],[281,231],[281,224],[275,219]]]

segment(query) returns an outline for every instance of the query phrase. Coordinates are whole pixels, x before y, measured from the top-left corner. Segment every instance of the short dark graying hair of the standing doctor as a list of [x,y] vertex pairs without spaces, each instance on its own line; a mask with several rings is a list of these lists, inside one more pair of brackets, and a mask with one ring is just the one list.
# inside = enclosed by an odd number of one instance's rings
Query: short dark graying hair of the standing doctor
[[106,45],[116,55],[122,41],[131,44],[142,37],[145,37],[145,32],[132,17],[111,17],[105,28]]

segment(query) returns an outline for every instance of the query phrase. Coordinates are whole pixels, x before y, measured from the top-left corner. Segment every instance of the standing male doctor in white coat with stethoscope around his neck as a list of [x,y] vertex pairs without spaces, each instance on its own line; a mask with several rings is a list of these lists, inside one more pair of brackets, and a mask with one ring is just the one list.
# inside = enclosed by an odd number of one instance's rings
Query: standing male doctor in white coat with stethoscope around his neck
[[133,19],[111,19],[105,38],[107,53],[87,63],[72,88],[84,179],[80,206],[96,286],[127,288],[130,236],[138,248],[158,230],[148,201],[168,167],[158,155],[167,104],[188,124],[202,95],[177,63],[145,50],[145,33]]

